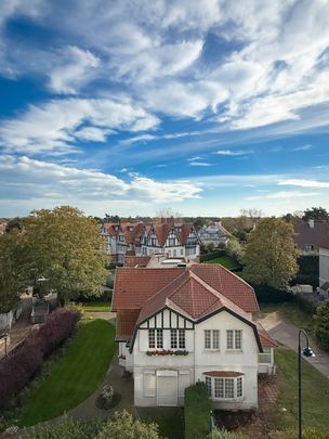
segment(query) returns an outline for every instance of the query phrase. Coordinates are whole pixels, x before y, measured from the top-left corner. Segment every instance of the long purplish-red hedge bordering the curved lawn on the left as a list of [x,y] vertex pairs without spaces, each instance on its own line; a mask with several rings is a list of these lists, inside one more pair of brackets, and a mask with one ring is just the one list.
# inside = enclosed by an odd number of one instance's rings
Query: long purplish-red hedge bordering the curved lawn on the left
[[0,408],[10,405],[11,399],[39,372],[42,359],[73,334],[78,319],[79,313],[74,310],[53,312],[38,331],[0,361]]

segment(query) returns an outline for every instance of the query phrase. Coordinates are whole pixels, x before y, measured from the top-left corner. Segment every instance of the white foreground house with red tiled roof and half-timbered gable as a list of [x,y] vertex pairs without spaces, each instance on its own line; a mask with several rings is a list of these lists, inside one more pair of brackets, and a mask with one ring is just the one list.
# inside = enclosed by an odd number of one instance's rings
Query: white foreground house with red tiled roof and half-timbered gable
[[274,372],[276,345],[252,321],[252,287],[221,266],[134,262],[117,269],[113,311],[135,405],[183,405],[185,388],[201,380],[215,408],[256,408],[258,374]]

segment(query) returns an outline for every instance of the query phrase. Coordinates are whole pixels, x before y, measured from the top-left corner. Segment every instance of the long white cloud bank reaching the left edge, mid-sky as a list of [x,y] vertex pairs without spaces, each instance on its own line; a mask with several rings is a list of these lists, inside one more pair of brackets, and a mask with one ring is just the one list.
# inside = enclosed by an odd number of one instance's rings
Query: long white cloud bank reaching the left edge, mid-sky
[[[91,127],[83,127],[82,124]],[[105,99],[65,99],[30,106],[0,125],[0,145],[23,153],[68,152],[79,139],[104,142],[113,129],[155,128],[158,119],[141,107]]]

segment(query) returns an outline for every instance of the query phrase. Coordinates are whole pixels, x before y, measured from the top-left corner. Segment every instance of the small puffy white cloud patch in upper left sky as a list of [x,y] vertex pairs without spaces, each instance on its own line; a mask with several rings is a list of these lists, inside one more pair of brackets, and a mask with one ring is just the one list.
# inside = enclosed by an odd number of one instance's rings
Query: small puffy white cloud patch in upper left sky
[[88,50],[69,46],[61,51],[58,65],[49,76],[49,87],[55,93],[77,94],[79,89],[96,76],[100,59]]

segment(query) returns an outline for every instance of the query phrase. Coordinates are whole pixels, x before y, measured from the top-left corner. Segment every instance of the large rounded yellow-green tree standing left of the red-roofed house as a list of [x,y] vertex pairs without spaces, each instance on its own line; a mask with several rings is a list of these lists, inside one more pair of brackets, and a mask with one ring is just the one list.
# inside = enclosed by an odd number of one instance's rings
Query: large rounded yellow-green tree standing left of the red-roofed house
[[45,277],[61,302],[102,294],[107,272],[94,219],[69,206],[35,210],[24,222],[24,233],[30,281]]

